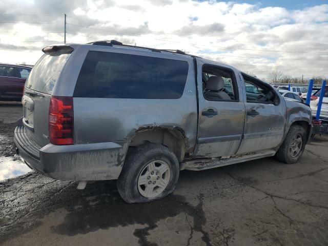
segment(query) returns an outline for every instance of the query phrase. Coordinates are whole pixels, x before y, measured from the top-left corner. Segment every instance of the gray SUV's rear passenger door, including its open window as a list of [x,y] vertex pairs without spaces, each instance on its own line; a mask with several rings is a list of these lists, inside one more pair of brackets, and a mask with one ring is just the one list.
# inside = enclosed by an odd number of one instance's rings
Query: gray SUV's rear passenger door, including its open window
[[[210,85],[211,77],[218,83],[223,79],[223,88]],[[203,64],[197,59],[199,114],[194,156],[219,157],[237,152],[245,116],[237,78],[232,68]]]

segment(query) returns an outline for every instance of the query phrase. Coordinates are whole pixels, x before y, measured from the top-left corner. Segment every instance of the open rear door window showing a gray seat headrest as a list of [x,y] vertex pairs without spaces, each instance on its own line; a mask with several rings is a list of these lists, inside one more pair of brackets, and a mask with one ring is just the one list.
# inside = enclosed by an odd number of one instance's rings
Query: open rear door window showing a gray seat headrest
[[202,69],[203,96],[209,101],[238,100],[234,72],[227,68],[204,65]]

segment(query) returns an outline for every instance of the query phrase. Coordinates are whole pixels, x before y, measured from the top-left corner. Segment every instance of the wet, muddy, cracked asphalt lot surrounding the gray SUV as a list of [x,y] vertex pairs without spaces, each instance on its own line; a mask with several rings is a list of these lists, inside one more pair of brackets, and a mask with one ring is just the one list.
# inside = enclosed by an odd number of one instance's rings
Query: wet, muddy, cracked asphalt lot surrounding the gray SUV
[[312,139],[293,165],[265,158],[182,171],[169,197],[127,204],[114,181],[76,190],[29,172],[13,145],[21,111],[0,104],[1,245],[328,245],[327,138]]

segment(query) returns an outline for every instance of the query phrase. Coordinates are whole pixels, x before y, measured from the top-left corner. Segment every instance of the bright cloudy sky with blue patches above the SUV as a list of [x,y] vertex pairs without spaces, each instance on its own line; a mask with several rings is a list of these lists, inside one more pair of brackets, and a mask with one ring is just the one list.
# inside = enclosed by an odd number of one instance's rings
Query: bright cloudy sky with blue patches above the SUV
[[326,0],[2,0],[0,63],[34,64],[47,45],[116,39],[188,53],[266,78],[328,77]]

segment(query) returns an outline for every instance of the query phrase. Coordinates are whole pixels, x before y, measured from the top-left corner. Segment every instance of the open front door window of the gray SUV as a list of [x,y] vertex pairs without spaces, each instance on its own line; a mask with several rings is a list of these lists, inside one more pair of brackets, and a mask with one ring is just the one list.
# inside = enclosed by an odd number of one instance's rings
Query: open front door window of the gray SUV
[[247,74],[242,73],[242,77],[245,82],[246,99],[248,102],[279,104],[279,97],[269,85]]

